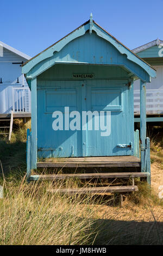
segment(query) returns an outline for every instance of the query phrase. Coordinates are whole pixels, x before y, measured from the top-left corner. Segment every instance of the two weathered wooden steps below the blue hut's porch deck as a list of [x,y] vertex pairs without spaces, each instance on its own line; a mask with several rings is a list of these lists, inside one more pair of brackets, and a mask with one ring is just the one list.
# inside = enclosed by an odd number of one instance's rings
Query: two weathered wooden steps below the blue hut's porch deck
[[131,185],[129,186],[103,186],[103,187],[77,187],[77,188],[54,188],[49,190],[51,193],[60,194],[98,194],[98,193],[120,193],[120,204],[122,206],[123,196],[125,192],[138,191],[138,187],[135,186],[134,178],[147,179],[149,173],[147,172],[127,172],[127,173],[82,173],[82,174],[45,174],[45,175],[30,175],[29,180],[64,180],[64,179],[80,179],[80,180],[93,180],[93,179],[131,179]]

